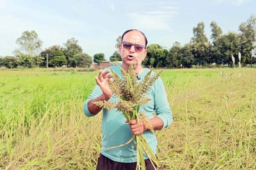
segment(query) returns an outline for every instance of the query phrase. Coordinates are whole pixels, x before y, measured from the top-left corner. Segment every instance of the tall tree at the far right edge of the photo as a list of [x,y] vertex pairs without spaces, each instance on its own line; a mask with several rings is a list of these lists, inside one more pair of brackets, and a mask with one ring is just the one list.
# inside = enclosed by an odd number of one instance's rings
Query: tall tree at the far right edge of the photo
[[241,39],[241,63],[251,63],[251,51],[256,47],[256,16],[251,15],[246,23],[241,23],[239,26],[239,37]]

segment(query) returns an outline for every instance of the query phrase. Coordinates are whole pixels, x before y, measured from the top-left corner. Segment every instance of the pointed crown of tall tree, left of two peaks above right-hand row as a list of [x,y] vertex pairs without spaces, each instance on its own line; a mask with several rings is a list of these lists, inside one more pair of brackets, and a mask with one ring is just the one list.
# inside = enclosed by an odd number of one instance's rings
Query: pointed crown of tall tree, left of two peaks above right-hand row
[[208,42],[206,35],[204,34],[204,22],[199,22],[196,27],[193,28],[194,37],[192,42],[204,43]]

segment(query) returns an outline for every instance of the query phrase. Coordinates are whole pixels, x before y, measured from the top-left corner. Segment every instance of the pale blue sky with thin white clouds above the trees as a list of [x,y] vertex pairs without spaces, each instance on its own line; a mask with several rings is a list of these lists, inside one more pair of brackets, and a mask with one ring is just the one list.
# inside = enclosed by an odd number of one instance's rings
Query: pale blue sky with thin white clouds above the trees
[[105,59],[116,50],[116,38],[128,29],[143,31],[148,45],[169,49],[193,36],[203,21],[217,22],[223,33],[239,32],[239,25],[256,14],[256,0],[0,0],[0,56],[13,56],[23,31],[35,30],[42,50],[75,37],[83,51]]

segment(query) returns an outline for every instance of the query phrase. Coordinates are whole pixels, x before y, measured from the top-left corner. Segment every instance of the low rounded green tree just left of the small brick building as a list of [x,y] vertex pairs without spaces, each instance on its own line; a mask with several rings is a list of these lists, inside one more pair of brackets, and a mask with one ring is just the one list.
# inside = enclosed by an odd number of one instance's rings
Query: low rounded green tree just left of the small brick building
[[89,68],[93,63],[93,59],[88,54],[79,53],[75,55],[74,62],[76,66]]

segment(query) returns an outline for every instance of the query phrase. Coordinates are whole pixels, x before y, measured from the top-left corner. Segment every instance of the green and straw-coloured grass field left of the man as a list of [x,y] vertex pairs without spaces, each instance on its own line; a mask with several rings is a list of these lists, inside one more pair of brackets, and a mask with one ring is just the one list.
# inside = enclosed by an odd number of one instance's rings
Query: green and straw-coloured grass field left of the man
[[1,78],[0,169],[94,169],[100,118],[86,119],[81,109],[94,76]]

